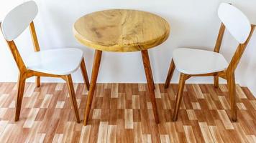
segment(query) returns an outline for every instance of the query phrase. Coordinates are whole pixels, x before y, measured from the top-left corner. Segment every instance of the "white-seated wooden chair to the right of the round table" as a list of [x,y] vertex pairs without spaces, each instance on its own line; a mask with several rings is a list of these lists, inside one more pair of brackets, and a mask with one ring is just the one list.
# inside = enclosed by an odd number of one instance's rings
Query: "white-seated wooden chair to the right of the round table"
[[[215,87],[219,87],[219,77],[227,80],[231,104],[231,118],[234,122],[237,120],[234,71],[250,41],[255,25],[251,25],[247,16],[230,4],[220,4],[218,15],[222,23],[214,51],[187,48],[175,49],[175,51],[173,51],[173,59],[165,82],[165,88],[168,88],[170,79],[173,76],[173,71],[176,67],[176,69],[180,71],[180,82],[178,85],[178,95],[175,101],[173,121],[176,121],[178,117],[178,109],[180,108],[186,80],[190,77],[208,76],[214,77]],[[232,36],[234,36],[234,39],[239,42],[239,46],[229,64],[224,56],[219,54],[225,28],[232,34]]]

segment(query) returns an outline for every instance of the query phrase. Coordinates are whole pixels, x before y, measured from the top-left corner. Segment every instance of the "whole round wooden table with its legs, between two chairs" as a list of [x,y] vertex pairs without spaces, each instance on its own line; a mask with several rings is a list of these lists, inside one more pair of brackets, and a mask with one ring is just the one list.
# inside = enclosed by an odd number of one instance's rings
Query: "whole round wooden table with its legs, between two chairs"
[[141,51],[155,122],[159,123],[155,102],[155,85],[147,49],[162,44],[170,34],[165,19],[145,11],[112,9],[97,11],[81,17],[73,26],[73,33],[81,44],[95,49],[91,85],[88,92],[85,119],[88,121],[102,51]]

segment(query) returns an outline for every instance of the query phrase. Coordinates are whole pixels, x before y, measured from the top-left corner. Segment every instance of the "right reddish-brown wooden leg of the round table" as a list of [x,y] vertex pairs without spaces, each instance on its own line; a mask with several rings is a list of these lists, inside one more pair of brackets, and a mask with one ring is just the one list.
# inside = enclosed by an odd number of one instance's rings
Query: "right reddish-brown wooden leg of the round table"
[[157,103],[155,101],[155,92],[153,87],[154,83],[152,83],[152,72],[150,69],[150,59],[149,59],[147,50],[142,50],[142,60],[145,68],[145,74],[147,78],[147,87],[150,92],[150,99],[152,103],[152,109],[154,112],[155,122],[158,124],[159,119],[158,119],[158,113],[157,113]]

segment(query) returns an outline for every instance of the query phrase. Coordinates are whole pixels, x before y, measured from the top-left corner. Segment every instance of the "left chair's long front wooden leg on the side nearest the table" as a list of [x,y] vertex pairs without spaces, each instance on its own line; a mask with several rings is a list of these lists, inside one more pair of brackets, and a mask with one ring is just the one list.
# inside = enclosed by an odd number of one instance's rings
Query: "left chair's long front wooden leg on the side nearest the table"
[[78,109],[78,104],[76,102],[76,93],[75,93],[75,90],[74,90],[74,87],[73,87],[72,77],[71,77],[70,74],[65,77],[65,81],[68,84],[70,102],[73,105],[73,109],[74,109],[75,114],[76,114],[76,120],[77,120],[78,123],[80,123],[79,109]]

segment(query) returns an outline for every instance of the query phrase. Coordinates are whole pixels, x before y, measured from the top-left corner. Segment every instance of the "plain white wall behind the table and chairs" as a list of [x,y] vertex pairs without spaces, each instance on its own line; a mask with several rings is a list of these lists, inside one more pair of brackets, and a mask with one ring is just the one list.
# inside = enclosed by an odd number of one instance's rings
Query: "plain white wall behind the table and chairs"
[[[1,0],[0,19],[6,11],[23,0]],[[155,49],[150,49],[150,59],[155,82],[165,81],[172,51],[180,46],[198,46],[213,49],[219,31],[220,21],[216,15],[219,3],[224,0],[36,0],[39,14],[35,19],[37,35],[41,49],[72,46],[83,49],[86,66],[91,76],[93,50],[79,44],[73,37],[72,26],[79,17],[102,9],[140,9],[163,16],[170,23],[169,39]],[[229,0],[234,6],[242,9],[256,24],[255,0]],[[237,43],[226,33],[221,53],[229,61]],[[25,31],[17,39],[17,45],[22,56],[33,52],[29,31]],[[209,47],[209,48],[205,48]],[[237,69],[237,82],[250,87],[256,94],[256,34],[252,37],[241,63]],[[17,67],[4,39],[0,36],[0,82],[16,82]],[[73,74],[75,82],[82,82],[80,71]],[[32,79],[28,80],[33,82]],[[44,82],[60,82],[57,79],[43,78]],[[104,52],[99,72],[99,82],[146,82],[140,52],[110,53]],[[173,82],[178,82],[178,72],[175,71]],[[195,78],[188,82],[212,82],[212,78]]]

